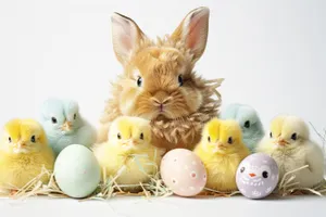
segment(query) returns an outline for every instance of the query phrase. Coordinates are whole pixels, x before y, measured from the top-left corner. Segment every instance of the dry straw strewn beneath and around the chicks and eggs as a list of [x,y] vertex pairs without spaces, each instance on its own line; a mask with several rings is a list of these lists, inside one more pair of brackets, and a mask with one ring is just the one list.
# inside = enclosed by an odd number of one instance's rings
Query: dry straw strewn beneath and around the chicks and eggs
[[[317,131],[316,131],[317,132]],[[323,151],[325,153],[326,148],[326,130],[324,133],[318,133],[318,137],[321,138],[323,142]],[[134,158],[134,161],[138,161],[139,157],[146,157],[145,155],[133,155],[130,156]],[[289,196],[289,195],[303,195],[303,194],[312,194],[312,195],[318,195],[323,196],[326,195],[326,179],[323,180],[319,184],[317,184],[314,188],[302,188],[299,186],[298,182],[294,181],[296,175],[294,173],[309,167],[309,165],[305,165],[303,167],[297,168],[292,171],[287,173],[283,179],[280,180],[278,187],[273,192],[276,196]],[[98,186],[96,191],[84,200],[109,200],[111,197],[117,196],[117,195],[138,195],[138,196],[145,196],[145,197],[162,197],[162,196],[170,196],[173,194],[172,190],[166,187],[159,173],[159,168],[156,168],[156,173],[154,175],[147,175],[149,176],[149,182],[147,183],[138,183],[138,184],[118,184],[116,183],[116,179],[118,176],[126,169],[126,166],[123,166],[120,168],[118,173],[115,175],[115,177],[105,178],[105,173],[102,173],[103,175],[103,181]],[[140,170],[143,171],[141,166],[139,167]],[[103,169],[104,171],[104,169]],[[145,171],[143,171],[145,173]],[[48,176],[50,178],[50,181],[48,183],[42,183],[42,177]],[[138,193],[131,193],[126,191],[126,189],[129,188],[139,188],[141,189]],[[240,194],[239,191],[235,192],[220,192],[212,189],[204,189],[202,193],[197,195],[197,197],[216,197],[216,196],[234,196]],[[30,180],[25,187],[22,189],[16,188],[8,188],[8,192],[0,192],[0,195],[11,197],[11,199],[27,199],[29,196],[38,196],[38,195],[46,195],[50,197],[68,197],[64,192],[60,190],[58,184],[55,183],[55,178],[53,173],[48,171],[46,168],[41,169],[41,173],[35,177],[33,180]]]

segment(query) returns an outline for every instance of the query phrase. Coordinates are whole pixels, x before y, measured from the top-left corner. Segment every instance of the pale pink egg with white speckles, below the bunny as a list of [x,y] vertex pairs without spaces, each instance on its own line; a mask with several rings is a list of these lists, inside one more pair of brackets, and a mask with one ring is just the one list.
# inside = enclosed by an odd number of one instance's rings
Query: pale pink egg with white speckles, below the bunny
[[206,184],[206,170],[191,151],[175,149],[162,158],[161,176],[164,183],[177,195],[195,196]]

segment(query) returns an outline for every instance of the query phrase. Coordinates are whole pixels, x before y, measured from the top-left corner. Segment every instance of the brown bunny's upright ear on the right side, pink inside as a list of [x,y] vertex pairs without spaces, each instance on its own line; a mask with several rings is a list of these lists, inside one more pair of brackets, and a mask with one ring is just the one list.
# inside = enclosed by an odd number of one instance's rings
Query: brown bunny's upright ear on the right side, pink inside
[[209,34],[210,10],[198,8],[187,14],[180,25],[172,34],[175,41],[184,41],[193,54],[193,62],[203,54]]

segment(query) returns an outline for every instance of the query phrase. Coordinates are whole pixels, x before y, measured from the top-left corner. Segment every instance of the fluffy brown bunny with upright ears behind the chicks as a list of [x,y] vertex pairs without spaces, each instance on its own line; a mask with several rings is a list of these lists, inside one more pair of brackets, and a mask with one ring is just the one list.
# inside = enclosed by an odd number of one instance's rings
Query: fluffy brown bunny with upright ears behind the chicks
[[113,48],[124,73],[112,84],[98,142],[108,140],[114,118],[130,115],[151,120],[158,146],[192,149],[198,143],[203,124],[217,116],[216,88],[223,81],[204,80],[192,71],[205,49],[209,15],[208,8],[191,11],[171,36],[156,42],[133,20],[112,16]]

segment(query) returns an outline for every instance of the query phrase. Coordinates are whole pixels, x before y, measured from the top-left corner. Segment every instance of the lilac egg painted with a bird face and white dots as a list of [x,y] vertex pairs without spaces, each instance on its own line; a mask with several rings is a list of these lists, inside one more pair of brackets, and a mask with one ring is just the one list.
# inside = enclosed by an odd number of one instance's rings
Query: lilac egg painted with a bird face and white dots
[[249,199],[263,199],[269,195],[278,182],[278,166],[268,155],[251,154],[237,169],[239,191]]

